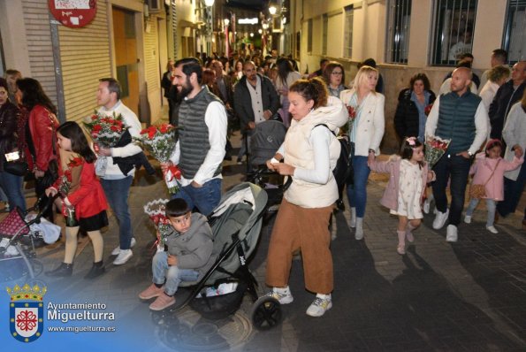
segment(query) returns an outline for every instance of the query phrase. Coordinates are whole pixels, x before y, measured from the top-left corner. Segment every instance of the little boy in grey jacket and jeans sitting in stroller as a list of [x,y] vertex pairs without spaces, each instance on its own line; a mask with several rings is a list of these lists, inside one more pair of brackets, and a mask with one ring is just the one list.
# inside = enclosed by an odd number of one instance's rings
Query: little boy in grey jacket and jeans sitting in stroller
[[188,208],[183,199],[166,203],[166,217],[172,232],[165,237],[168,252],[157,252],[152,261],[153,283],[139,298],[156,300],[150,310],[164,310],[175,303],[175,292],[181,281],[197,281],[214,264],[212,231],[207,218]]

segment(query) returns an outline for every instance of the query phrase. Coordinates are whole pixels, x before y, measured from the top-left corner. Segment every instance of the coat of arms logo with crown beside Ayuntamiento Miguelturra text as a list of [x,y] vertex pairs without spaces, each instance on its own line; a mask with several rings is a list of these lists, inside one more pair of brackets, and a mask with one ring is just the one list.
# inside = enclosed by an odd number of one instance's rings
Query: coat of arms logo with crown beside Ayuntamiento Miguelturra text
[[22,342],[33,342],[41,337],[44,330],[43,296],[47,287],[34,285],[15,285],[7,287],[11,296],[9,302],[9,321],[11,336]]

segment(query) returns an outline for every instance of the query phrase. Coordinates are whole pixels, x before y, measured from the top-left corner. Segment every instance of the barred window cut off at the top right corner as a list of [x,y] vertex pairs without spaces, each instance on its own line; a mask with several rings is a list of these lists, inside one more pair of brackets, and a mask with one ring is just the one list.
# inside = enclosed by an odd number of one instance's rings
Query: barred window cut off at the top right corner
[[502,47],[510,65],[526,60],[526,0],[508,0]]

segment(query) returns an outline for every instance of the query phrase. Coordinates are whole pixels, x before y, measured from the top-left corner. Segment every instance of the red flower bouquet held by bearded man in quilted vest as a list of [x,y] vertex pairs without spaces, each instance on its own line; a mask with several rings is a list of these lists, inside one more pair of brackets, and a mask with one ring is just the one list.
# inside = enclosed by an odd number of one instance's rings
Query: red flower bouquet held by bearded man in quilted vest
[[[144,149],[161,163],[168,163],[175,149],[175,130],[177,127],[170,124],[149,126],[141,131],[141,137],[133,138],[140,142]],[[171,194],[177,193],[181,172],[177,166],[171,166],[164,172],[164,181]]]

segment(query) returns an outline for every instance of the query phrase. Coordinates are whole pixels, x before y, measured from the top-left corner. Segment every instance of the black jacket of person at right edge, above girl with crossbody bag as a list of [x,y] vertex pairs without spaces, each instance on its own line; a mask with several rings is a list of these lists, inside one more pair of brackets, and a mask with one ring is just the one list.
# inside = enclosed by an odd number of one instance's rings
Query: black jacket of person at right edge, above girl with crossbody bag
[[490,105],[490,111],[488,111],[490,123],[492,124],[492,138],[502,139],[502,128],[504,128],[507,113],[514,103],[521,100],[524,87],[526,87],[526,82],[522,82],[519,88],[514,91],[513,80],[508,80],[497,90]]

